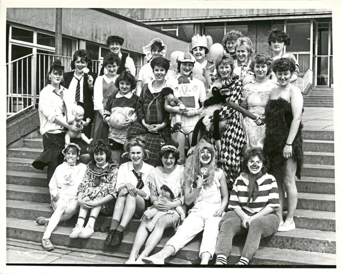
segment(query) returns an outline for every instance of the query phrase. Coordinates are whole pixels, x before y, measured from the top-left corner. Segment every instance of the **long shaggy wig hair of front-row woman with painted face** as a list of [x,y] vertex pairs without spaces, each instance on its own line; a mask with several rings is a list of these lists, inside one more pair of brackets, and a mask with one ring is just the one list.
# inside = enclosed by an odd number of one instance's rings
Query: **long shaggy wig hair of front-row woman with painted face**
[[214,175],[216,171],[216,159],[214,146],[206,142],[205,140],[200,140],[196,145],[194,152],[188,157],[185,162],[185,169],[183,172],[183,182],[185,184],[192,184],[198,175],[201,175],[201,163],[199,161],[201,151],[206,148],[209,150],[212,158],[208,165],[207,170],[207,180],[204,182],[205,187],[211,187],[214,182]]

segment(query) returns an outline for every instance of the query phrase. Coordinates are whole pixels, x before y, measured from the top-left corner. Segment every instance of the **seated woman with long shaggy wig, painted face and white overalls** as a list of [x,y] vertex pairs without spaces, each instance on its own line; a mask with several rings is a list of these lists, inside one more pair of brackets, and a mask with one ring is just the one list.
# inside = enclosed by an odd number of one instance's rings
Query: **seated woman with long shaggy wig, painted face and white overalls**
[[201,264],[213,257],[218,235],[218,223],[228,203],[228,190],[224,172],[216,168],[214,147],[201,140],[189,156],[183,174],[185,204],[194,206],[175,236],[155,255],[143,258],[145,263],[164,264],[182,247],[203,231],[199,248]]

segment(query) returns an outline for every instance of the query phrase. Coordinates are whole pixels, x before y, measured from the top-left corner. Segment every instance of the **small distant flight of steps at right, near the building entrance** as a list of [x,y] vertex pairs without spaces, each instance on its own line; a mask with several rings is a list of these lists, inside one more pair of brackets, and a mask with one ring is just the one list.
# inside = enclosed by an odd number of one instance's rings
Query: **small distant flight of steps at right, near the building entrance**
[[313,87],[303,95],[304,107],[334,107],[334,90],[330,87]]

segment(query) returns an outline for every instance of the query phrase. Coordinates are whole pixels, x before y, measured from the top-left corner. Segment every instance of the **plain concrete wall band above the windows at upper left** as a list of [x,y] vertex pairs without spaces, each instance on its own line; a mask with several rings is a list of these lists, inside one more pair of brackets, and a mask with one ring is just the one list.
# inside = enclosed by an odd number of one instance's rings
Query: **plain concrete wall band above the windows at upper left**
[[[7,21],[54,32],[55,9],[8,8]],[[174,35],[93,9],[63,8],[62,34],[100,44],[106,44],[109,35],[119,35],[125,38],[123,49],[139,53],[142,53],[143,46],[159,37],[167,45],[166,57],[172,51],[189,51],[189,43]]]

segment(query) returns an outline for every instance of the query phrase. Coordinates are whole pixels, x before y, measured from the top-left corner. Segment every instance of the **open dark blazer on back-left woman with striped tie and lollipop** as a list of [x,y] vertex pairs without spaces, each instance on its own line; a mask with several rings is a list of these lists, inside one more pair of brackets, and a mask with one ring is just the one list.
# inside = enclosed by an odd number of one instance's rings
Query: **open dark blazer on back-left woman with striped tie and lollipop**
[[[63,86],[66,88],[69,88],[70,83],[72,81],[74,71],[65,72],[63,74]],[[90,72],[89,73],[92,78],[94,79],[93,85],[95,84],[95,79],[97,77],[96,73]],[[83,120],[86,120],[87,118],[90,118],[91,120],[94,120],[94,102],[93,102],[93,95],[94,95],[94,88],[90,88],[88,85],[88,74],[84,74],[84,80],[83,80],[83,102],[84,102],[84,118]]]

